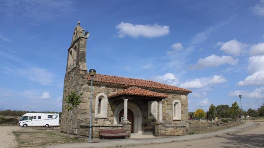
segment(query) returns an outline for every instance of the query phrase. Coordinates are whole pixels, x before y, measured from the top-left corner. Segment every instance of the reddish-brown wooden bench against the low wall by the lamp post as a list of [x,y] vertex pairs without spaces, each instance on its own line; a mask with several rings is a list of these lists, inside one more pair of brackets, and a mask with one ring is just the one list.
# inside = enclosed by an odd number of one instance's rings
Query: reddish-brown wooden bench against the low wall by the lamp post
[[125,129],[99,129],[99,136],[104,139],[104,137],[125,137],[127,132]]

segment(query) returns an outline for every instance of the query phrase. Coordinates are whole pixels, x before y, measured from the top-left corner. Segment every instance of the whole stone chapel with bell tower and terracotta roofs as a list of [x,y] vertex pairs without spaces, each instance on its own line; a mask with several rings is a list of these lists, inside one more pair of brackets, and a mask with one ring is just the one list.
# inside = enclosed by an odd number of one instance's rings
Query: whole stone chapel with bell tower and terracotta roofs
[[[71,134],[88,136],[91,115],[92,137],[99,137],[99,129],[125,129],[128,137],[131,133],[186,134],[190,90],[149,80],[96,74],[90,98],[91,76],[87,73],[86,45],[87,36],[78,22],[68,48],[61,132],[67,132],[69,128]],[[89,64],[88,67],[91,68]],[[82,103],[72,113],[65,108],[69,105],[65,99],[71,91],[82,93]]]

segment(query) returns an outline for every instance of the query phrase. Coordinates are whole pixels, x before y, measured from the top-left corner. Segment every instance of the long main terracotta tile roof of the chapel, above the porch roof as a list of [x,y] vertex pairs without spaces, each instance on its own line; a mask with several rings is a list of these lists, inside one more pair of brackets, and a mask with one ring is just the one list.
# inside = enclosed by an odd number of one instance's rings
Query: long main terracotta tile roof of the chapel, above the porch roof
[[[91,76],[87,73],[87,80],[91,80]],[[153,89],[165,89],[172,91],[183,91],[187,93],[191,93],[192,91],[187,89],[182,89],[176,86],[170,86],[167,84],[162,84],[154,81],[143,80],[143,79],[135,79],[135,78],[127,78],[127,77],[118,77],[111,76],[105,74],[96,74],[93,77],[93,81],[102,82],[102,83],[111,83],[111,84],[119,84],[125,86],[136,86],[141,88],[153,88]]]

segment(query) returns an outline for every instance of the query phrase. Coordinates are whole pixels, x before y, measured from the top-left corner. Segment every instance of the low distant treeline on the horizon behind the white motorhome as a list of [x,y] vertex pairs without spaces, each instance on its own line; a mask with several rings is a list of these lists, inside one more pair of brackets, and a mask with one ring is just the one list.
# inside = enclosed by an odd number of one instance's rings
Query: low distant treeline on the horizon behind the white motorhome
[[[10,109],[5,110],[5,111],[0,111],[0,115],[2,116],[22,116],[26,113],[58,113],[58,112],[36,112],[36,111],[11,111]],[[61,112],[59,112],[59,115],[61,117]]]

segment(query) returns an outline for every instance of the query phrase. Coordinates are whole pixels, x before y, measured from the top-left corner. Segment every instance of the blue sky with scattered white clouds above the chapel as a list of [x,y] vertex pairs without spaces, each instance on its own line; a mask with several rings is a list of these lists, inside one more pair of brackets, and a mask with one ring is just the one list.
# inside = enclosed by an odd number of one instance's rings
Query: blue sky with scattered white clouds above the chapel
[[264,103],[264,0],[0,2],[0,108],[61,111],[78,21],[88,69],[190,89],[189,111]]

